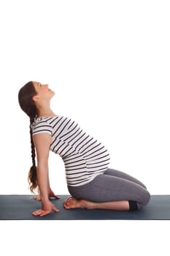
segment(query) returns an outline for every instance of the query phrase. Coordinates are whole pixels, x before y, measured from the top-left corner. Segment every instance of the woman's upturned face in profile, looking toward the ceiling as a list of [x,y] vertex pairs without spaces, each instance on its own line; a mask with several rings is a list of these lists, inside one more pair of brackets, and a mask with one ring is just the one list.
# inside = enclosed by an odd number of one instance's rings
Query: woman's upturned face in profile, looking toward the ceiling
[[36,90],[36,97],[40,99],[51,99],[55,92],[48,88],[48,84],[42,84],[39,82],[33,82],[34,88]]

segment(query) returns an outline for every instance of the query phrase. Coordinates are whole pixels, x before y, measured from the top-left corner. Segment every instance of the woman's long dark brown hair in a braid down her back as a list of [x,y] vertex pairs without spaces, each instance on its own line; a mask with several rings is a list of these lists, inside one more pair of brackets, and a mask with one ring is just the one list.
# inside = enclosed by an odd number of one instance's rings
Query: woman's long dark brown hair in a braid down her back
[[32,81],[26,83],[18,93],[18,101],[20,108],[29,116],[30,118],[30,137],[31,137],[31,158],[32,166],[28,173],[28,183],[31,192],[34,192],[34,189],[38,187],[37,176],[36,176],[36,152],[34,146],[34,140],[32,138],[32,129],[31,124],[34,121],[34,118],[37,116],[37,109],[32,99],[36,95],[36,89],[34,88],[34,83]]

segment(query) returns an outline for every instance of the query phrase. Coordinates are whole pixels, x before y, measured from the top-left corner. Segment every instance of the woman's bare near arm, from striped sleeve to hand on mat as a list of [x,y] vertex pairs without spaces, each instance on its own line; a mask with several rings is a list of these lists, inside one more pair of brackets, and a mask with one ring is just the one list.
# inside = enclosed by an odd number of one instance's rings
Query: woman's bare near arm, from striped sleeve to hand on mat
[[39,191],[42,200],[42,209],[34,211],[34,215],[44,216],[50,211],[58,211],[53,203],[49,200],[49,176],[48,176],[48,158],[50,151],[50,143],[52,137],[45,133],[34,135],[34,144],[36,147],[37,156],[37,181],[39,184]]

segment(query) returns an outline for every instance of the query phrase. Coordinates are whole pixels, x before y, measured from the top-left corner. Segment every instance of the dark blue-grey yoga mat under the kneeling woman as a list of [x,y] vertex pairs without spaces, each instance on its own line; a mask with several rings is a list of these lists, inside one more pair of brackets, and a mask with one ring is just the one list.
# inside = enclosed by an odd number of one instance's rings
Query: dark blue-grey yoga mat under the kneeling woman
[[0,195],[0,219],[170,219],[170,195],[152,195],[150,203],[140,211],[111,211],[63,208],[63,200],[69,195],[59,195],[61,199],[52,200],[59,208],[45,217],[34,217],[31,212],[41,208],[41,202],[33,199],[32,195]]

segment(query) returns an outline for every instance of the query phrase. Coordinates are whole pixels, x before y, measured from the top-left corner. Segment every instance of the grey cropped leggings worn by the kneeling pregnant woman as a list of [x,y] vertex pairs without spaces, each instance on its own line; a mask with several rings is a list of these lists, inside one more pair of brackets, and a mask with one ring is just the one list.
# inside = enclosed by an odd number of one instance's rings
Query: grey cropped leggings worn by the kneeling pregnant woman
[[68,189],[69,193],[77,199],[100,203],[132,200],[142,208],[150,200],[150,193],[141,181],[119,170],[109,168],[88,184],[78,187],[68,186]]

